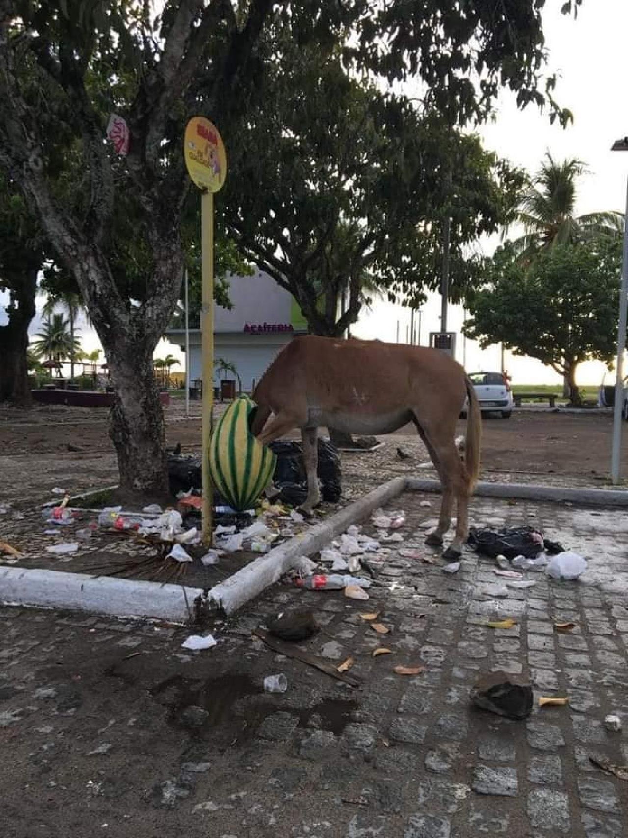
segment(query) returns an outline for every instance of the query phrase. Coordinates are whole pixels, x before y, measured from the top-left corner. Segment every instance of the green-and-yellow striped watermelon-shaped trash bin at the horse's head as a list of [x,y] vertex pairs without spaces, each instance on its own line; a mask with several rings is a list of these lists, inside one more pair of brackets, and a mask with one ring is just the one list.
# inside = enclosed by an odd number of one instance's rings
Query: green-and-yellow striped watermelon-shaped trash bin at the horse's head
[[250,510],[275,473],[277,458],[250,432],[255,402],[239,396],[214,427],[209,472],[214,487],[234,510]]

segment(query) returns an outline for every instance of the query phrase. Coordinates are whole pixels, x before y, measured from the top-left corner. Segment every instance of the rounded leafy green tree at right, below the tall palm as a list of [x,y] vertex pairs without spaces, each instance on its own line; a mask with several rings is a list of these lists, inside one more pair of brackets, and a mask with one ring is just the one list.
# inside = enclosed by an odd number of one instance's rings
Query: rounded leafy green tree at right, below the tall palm
[[541,251],[531,266],[511,244],[486,265],[486,287],[468,302],[468,337],[482,349],[502,342],[566,376],[579,401],[575,370],[584,360],[615,357],[621,239],[601,236]]

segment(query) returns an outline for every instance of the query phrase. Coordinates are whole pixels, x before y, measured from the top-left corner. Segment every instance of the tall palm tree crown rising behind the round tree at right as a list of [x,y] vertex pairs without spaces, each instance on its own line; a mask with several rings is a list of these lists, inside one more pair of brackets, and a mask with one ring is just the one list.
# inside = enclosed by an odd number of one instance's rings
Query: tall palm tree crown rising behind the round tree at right
[[525,235],[513,242],[518,258],[531,264],[540,251],[574,244],[596,235],[618,235],[623,216],[617,212],[575,215],[576,180],[586,173],[582,160],[558,163],[547,152],[541,168],[522,194],[517,220]]

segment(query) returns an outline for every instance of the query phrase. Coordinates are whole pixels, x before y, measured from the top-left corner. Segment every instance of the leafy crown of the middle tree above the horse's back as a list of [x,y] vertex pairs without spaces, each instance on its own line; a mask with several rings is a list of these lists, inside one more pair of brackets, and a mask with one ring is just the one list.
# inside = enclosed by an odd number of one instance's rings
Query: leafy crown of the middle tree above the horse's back
[[245,255],[296,297],[312,331],[339,335],[368,287],[414,302],[438,287],[449,216],[460,294],[473,276],[466,247],[507,223],[522,174],[435,112],[347,75],[337,51],[299,48],[291,32],[271,43],[281,52],[225,186],[225,225]]

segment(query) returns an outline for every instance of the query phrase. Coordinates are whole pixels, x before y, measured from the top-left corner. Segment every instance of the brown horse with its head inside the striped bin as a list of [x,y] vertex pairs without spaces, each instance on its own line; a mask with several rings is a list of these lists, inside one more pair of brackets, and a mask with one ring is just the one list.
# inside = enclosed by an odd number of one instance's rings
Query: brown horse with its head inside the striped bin
[[[465,464],[456,450],[456,422],[468,398]],[[457,499],[456,537],[448,558],[461,555],[467,535],[469,495],[480,470],[481,413],[465,371],[437,349],[368,340],[313,336],[281,349],[255,387],[252,432],[261,442],[301,428],[310,511],[320,500],[317,479],[319,427],[348,433],[391,433],[414,422],[440,477],[443,499],[436,530],[442,546]],[[270,417],[274,416],[266,424]]]

